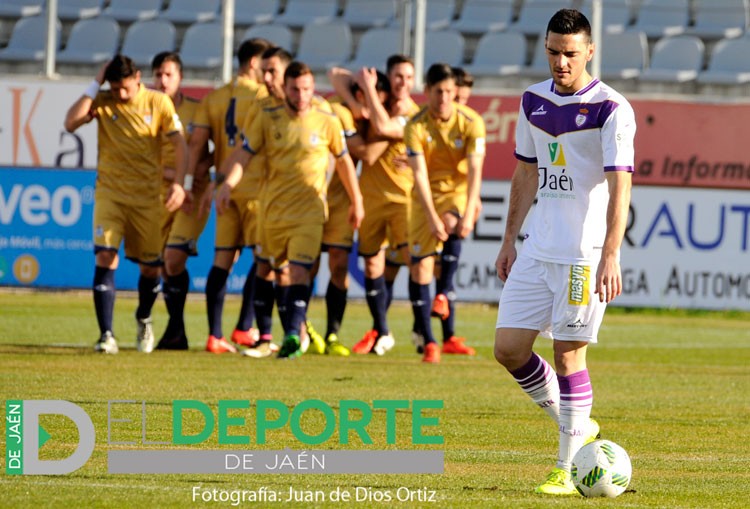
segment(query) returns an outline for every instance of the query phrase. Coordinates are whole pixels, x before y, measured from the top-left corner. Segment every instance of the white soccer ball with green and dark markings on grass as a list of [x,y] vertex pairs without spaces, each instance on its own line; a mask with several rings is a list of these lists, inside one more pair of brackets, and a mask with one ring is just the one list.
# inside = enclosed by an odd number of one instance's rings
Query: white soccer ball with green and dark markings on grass
[[621,495],[630,484],[632,466],[625,449],[609,440],[584,445],[573,457],[570,475],[584,497]]

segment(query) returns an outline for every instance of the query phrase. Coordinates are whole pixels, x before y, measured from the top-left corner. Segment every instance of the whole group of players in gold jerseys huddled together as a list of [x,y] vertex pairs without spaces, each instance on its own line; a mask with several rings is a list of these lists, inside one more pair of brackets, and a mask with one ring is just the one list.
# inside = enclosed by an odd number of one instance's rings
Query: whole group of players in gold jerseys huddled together
[[[420,107],[411,97],[414,65],[402,55],[388,59],[386,74],[332,69],[336,96],[328,100],[315,94],[310,68],[269,41],[243,42],[238,60],[232,82],[198,102],[180,89],[177,53],[154,58],[155,90],[141,83],[131,59],[117,55],[67,113],[69,131],[94,119],[98,124],[93,293],[101,334],[95,350],[118,351],[114,272],[123,242],[125,256],[140,266],[138,350],[188,348],[186,262],[197,254],[213,202],[206,350],[258,358],[350,355],[338,334],[357,246],[373,327],[351,351],[383,355],[393,348],[387,311],[399,267],[407,265],[412,339],[422,360],[473,355],[454,329],[454,279],[461,241],[481,209],[485,153],[484,122],[465,105],[471,77],[432,65]],[[105,81],[109,89],[100,90]],[[227,339],[221,327],[226,284],[244,248],[254,261]],[[307,319],[321,251],[331,274],[324,334]],[[169,322],[157,343],[151,311],[160,290]],[[280,346],[271,335],[274,303],[284,331]],[[441,319],[442,348],[431,316]]]

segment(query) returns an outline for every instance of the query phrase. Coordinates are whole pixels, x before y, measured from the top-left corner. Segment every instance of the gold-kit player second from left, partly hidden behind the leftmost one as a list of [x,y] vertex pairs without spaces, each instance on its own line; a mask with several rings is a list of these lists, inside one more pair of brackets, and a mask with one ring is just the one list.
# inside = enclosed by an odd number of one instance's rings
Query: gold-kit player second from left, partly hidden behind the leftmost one
[[[151,62],[154,88],[167,94],[174,103],[177,115],[184,128],[184,136],[189,141],[193,130],[193,118],[198,110],[199,101],[185,96],[180,89],[182,83],[182,60],[173,51],[163,51]],[[164,194],[174,181],[175,155],[172,144],[165,139],[162,149],[162,189]],[[162,271],[164,302],[169,313],[167,328],[161,337],[157,349],[187,350],[188,340],[185,334],[185,300],[190,289],[190,276],[186,263],[188,256],[197,256],[197,243],[208,215],[200,214],[197,203],[208,186],[208,169],[213,160],[204,144],[201,159],[189,165],[184,178],[185,202],[176,211],[164,209],[162,238],[165,243],[164,267]]]

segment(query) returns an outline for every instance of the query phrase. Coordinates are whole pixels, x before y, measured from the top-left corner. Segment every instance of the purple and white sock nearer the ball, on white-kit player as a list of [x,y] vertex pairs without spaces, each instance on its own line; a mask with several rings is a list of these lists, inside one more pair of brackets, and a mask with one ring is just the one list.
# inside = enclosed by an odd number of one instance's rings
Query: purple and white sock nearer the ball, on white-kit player
[[586,440],[594,393],[587,369],[557,376],[560,386],[560,449],[557,467],[570,471],[573,456]]

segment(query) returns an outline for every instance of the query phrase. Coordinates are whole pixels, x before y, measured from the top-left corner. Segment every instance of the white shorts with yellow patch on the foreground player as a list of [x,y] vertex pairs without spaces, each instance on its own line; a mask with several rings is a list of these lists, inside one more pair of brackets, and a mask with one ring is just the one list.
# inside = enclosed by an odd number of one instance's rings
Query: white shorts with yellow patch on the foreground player
[[596,343],[607,304],[594,293],[595,278],[596,267],[541,262],[522,254],[500,295],[496,327]]

